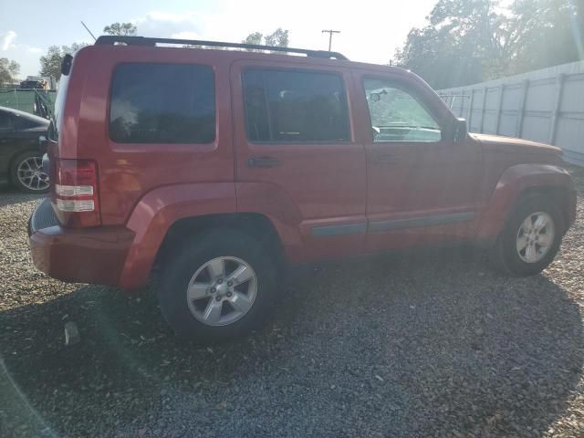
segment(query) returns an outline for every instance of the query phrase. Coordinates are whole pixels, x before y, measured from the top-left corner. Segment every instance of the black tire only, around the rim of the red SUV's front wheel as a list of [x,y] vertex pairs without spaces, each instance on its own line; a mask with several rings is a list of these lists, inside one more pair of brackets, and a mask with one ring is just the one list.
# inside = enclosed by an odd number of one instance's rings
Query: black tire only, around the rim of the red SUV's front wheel
[[[547,254],[536,263],[527,263],[521,259],[516,249],[517,233],[529,214],[543,212],[554,221],[554,241]],[[558,253],[563,235],[563,219],[557,205],[547,196],[531,196],[517,204],[506,228],[501,235],[501,254],[509,274],[514,276],[534,276],[543,271]]]

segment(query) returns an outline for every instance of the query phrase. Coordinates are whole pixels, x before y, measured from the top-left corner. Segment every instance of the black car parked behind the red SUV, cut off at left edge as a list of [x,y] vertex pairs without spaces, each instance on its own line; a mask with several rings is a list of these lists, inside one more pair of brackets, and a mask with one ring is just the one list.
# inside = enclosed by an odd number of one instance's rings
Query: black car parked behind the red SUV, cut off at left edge
[[9,181],[25,193],[48,190],[42,171],[38,137],[45,135],[48,120],[27,112],[0,107],[0,182]]

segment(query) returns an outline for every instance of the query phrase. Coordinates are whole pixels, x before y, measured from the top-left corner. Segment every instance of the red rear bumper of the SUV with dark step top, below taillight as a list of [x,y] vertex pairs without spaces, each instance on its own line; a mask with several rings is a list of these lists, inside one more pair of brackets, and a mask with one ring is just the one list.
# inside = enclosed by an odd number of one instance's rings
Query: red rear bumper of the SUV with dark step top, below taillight
[[48,276],[78,283],[118,286],[134,234],[125,227],[63,228],[49,199],[28,220],[35,266]]

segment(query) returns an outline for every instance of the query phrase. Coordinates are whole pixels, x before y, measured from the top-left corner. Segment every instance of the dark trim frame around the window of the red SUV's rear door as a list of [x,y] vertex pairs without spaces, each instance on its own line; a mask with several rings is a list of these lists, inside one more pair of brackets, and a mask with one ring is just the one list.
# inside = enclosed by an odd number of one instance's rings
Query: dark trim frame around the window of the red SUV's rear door
[[[340,87],[345,96],[345,105],[346,105],[346,118],[347,118],[347,140],[315,140],[315,141],[291,141],[291,140],[269,140],[269,141],[257,141],[251,140],[249,138],[249,130],[248,130],[248,123],[247,123],[247,105],[245,104],[245,73],[249,70],[260,70],[260,71],[281,71],[281,72],[295,72],[295,73],[316,73],[316,74],[324,74],[324,75],[332,75],[337,76],[340,80]],[[312,68],[282,68],[282,67],[262,67],[262,66],[245,66],[240,70],[240,79],[241,79],[241,90],[242,90],[242,103],[244,105],[244,122],[245,122],[245,141],[249,144],[258,144],[258,145],[266,145],[266,144],[350,144],[353,142],[353,131],[351,130],[351,111],[349,105],[349,95],[347,93],[347,86],[345,84],[344,75],[339,71],[331,71],[331,70],[323,70],[323,69],[312,69]],[[267,100],[267,93],[266,93],[266,81],[264,81],[264,95],[266,97],[266,116],[268,120],[268,130],[270,132],[270,136],[273,136],[272,133],[272,114],[269,110],[268,100]]]

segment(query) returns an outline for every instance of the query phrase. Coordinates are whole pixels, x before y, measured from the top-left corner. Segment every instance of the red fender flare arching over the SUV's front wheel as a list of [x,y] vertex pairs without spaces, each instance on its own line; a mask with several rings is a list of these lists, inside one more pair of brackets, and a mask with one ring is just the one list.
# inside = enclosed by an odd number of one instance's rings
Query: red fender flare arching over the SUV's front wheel
[[477,237],[495,240],[503,230],[509,212],[522,193],[529,189],[553,188],[574,192],[574,184],[565,169],[552,164],[516,164],[508,167],[496,183],[481,214]]

